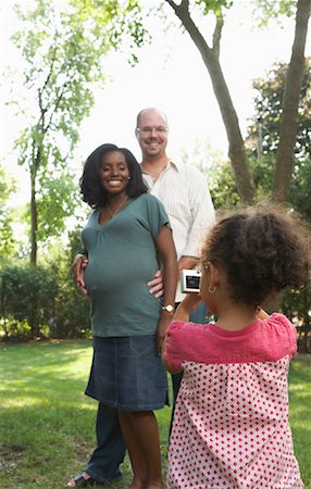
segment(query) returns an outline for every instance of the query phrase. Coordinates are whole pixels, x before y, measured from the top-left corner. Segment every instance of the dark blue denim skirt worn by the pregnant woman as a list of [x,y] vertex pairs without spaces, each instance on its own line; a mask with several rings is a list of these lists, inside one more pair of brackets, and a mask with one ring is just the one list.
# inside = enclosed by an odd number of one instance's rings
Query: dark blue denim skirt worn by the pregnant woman
[[167,403],[166,372],[157,336],[94,337],[85,393],[121,411],[152,411]]

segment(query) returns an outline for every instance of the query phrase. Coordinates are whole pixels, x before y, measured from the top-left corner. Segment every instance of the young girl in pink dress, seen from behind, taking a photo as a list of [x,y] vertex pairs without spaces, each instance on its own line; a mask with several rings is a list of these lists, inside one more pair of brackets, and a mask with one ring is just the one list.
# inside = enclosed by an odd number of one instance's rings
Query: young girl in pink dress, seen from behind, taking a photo
[[217,321],[187,323],[188,294],[170,325],[163,361],[184,371],[167,488],[302,488],[288,424],[287,374],[296,330],[260,304],[310,278],[310,235],[268,205],[222,218],[202,249],[200,296]]

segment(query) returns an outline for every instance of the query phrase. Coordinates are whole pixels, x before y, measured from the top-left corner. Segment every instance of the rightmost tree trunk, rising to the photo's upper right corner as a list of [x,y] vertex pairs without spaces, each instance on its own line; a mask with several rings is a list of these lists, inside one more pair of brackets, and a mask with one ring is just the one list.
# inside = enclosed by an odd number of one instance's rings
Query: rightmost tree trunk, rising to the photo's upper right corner
[[286,201],[289,193],[297,135],[297,114],[304,68],[304,47],[311,0],[298,0],[295,39],[288,65],[279,125],[279,145],[276,156],[273,196]]

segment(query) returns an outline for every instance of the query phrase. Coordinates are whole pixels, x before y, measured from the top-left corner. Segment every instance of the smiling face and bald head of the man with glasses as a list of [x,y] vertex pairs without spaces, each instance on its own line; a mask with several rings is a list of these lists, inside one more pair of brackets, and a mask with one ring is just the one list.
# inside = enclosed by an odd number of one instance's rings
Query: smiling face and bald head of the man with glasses
[[156,110],[146,110],[140,115],[136,137],[141,149],[142,159],[152,159],[165,154],[167,146],[167,122]]

